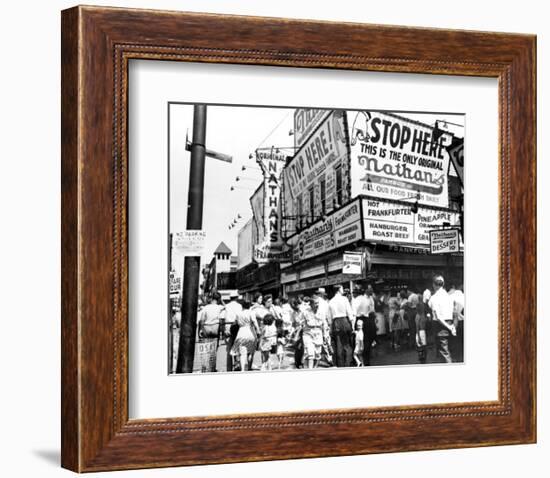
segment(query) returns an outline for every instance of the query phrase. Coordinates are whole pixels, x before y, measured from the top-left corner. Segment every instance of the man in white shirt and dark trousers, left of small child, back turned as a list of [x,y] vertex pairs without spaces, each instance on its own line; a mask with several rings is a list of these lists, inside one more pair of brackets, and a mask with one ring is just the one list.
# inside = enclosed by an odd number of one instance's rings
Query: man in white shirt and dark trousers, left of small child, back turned
[[350,367],[353,361],[352,326],[353,310],[344,296],[344,287],[338,286],[328,303],[328,319],[332,324],[331,337],[334,362],[337,367]]

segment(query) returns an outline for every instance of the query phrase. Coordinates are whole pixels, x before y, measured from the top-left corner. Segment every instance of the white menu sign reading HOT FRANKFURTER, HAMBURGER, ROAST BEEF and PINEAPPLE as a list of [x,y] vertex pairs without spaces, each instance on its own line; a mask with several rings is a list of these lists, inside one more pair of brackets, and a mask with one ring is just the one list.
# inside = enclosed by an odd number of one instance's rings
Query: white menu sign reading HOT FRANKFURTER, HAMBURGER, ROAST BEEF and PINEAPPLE
[[420,207],[414,214],[410,206],[363,200],[365,240],[377,243],[428,246],[430,231],[443,226],[458,226],[456,212]]

